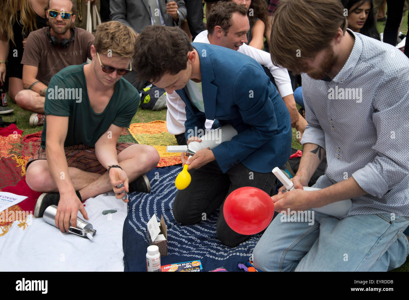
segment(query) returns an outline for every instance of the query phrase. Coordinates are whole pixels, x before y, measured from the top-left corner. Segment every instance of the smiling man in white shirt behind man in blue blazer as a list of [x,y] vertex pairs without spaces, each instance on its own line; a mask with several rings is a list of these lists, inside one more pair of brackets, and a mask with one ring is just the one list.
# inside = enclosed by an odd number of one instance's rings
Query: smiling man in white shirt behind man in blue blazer
[[[265,66],[274,78],[277,89],[290,112],[291,127],[300,131],[302,137],[307,121],[297,111],[290,76],[285,68],[274,66],[270,54],[247,44],[246,33],[249,30],[247,8],[234,2],[219,2],[212,8],[207,18],[207,29],[198,34],[193,42],[218,45],[233,49],[254,58]],[[169,133],[174,134],[179,144],[186,144],[184,122],[186,121],[185,104],[176,92],[166,95],[166,124]],[[211,128],[212,121],[207,120],[206,128]]]

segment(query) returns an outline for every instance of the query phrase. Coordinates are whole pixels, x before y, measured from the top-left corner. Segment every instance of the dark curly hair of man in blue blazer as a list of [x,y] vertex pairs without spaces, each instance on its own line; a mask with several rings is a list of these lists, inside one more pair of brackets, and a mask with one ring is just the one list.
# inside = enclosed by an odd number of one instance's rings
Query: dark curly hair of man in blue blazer
[[169,73],[175,75],[187,67],[187,53],[193,51],[187,34],[178,27],[151,25],[139,34],[135,43],[135,71],[139,78],[157,82]]

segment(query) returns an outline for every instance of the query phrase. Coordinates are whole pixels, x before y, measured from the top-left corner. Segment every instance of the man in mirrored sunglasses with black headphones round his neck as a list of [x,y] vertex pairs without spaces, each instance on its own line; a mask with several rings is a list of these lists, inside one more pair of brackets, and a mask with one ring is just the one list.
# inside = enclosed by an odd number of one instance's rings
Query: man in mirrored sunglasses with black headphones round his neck
[[44,124],[44,100],[49,80],[61,69],[91,59],[92,33],[73,27],[75,6],[72,0],[49,0],[46,10],[49,27],[27,37],[23,64],[23,86],[16,95],[18,106],[34,111],[30,126]]

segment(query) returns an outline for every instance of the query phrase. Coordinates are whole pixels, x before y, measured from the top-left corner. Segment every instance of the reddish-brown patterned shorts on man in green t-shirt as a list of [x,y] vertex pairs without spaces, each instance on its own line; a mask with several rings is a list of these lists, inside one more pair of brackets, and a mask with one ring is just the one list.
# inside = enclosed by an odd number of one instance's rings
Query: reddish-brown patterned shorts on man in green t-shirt
[[[122,150],[133,145],[135,143],[117,143],[117,154],[121,153]],[[67,158],[68,167],[73,167],[80,169],[82,171],[90,173],[105,173],[107,170],[100,164],[95,155],[95,148],[91,148],[85,145],[74,145],[64,148],[65,157]],[[26,170],[30,162],[38,159],[47,159],[45,149],[40,147],[38,153],[31,156],[27,162]]]

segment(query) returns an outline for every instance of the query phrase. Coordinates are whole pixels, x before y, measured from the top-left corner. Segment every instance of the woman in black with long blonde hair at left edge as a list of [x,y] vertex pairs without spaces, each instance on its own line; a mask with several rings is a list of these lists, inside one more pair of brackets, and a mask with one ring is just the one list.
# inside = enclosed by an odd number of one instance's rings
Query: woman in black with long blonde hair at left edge
[[[47,0],[4,0],[0,2],[0,82],[9,77],[9,96],[14,101],[23,89],[22,65],[25,39],[31,31],[46,26]],[[6,61],[8,63],[6,70]],[[1,111],[0,114],[7,113]]]

